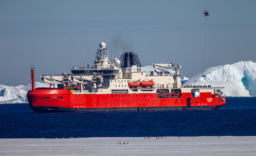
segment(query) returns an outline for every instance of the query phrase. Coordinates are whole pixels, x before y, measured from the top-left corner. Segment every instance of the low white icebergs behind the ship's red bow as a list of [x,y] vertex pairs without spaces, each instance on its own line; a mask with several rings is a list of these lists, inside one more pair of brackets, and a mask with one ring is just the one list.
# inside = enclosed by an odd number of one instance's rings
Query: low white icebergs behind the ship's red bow
[[[49,87],[47,83],[35,82],[35,88]],[[27,86],[5,86],[0,84],[0,104],[2,103],[28,103],[27,92],[31,90],[31,84]]]

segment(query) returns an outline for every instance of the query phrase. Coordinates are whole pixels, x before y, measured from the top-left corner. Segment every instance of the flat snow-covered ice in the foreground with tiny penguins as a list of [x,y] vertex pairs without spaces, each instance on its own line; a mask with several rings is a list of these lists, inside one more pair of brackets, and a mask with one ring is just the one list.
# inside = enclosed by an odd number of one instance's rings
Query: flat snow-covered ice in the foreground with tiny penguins
[[[158,138],[158,137],[157,137]],[[162,138],[162,137],[161,137]],[[124,144],[125,143],[125,144]],[[0,155],[256,155],[256,137],[0,139]]]

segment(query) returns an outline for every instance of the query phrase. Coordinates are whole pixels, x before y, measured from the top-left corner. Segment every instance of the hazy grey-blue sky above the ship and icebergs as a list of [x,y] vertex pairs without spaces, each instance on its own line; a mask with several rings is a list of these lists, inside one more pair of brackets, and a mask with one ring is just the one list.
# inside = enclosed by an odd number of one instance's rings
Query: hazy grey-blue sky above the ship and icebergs
[[41,74],[93,64],[106,41],[113,57],[135,51],[143,66],[175,62],[181,77],[205,68],[256,62],[255,0],[0,0],[0,84],[27,85]]

